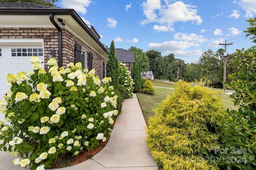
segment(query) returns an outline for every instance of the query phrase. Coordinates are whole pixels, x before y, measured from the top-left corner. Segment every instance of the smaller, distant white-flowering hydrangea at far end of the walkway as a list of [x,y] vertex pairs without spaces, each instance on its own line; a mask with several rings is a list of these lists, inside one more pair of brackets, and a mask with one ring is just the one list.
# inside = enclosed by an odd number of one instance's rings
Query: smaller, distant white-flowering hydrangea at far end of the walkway
[[126,89],[126,99],[132,98],[133,97],[133,79],[130,75],[130,71],[128,68],[125,66],[124,63],[119,63],[119,68],[120,68],[120,73],[119,73],[119,84],[124,86]]

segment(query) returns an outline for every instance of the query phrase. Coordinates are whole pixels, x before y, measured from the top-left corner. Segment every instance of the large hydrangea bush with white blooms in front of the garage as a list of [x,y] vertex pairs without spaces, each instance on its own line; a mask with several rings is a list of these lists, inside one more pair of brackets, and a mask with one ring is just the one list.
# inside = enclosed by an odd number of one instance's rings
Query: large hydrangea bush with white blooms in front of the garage
[[45,71],[38,58],[30,61],[34,72],[8,74],[11,88],[0,100],[0,111],[9,122],[0,123],[0,149],[22,157],[13,163],[43,170],[59,154],[77,156],[106,141],[118,114],[111,78],[100,81],[95,70],[82,71],[81,63],[64,69],[50,59]]

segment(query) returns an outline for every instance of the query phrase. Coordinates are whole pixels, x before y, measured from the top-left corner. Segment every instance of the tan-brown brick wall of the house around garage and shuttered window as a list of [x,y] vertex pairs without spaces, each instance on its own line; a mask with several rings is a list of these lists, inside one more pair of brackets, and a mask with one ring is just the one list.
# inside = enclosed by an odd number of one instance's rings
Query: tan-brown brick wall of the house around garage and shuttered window
[[[0,28],[0,39],[44,39],[44,63],[47,69],[46,55],[50,49],[55,49],[55,59],[58,62],[58,30],[56,28]],[[76,42],[82,45],[88,54],[93,53],[92,68],[95,69],[95,75],[103,78],[103,59],[96,51],[90,48],[86,43],[66,29],[62,29],[62,65],[74,63]]]

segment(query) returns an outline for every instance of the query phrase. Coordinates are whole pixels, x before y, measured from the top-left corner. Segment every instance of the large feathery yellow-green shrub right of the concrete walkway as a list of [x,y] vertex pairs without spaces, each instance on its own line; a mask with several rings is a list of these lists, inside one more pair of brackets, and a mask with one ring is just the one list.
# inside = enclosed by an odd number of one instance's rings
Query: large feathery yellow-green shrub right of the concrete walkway
[[150,117],[146,143],[164,170],[217,170],[211,160],[221,144],[224,111],[215,91],[178,82],[176,92]]

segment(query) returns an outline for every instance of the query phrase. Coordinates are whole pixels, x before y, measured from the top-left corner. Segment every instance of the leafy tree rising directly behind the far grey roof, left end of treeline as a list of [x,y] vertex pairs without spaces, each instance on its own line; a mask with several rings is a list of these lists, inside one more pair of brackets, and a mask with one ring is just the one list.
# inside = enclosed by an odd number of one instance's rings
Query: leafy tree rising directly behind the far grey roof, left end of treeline
[[143,52],[142,49],[137,49],[137,47],[130,47],[128,51],[134,51],[134,59],[135,63],[140,63],[141,71],[148,71],[149,70],[149,60],[148,56]]

